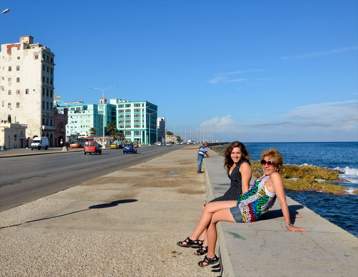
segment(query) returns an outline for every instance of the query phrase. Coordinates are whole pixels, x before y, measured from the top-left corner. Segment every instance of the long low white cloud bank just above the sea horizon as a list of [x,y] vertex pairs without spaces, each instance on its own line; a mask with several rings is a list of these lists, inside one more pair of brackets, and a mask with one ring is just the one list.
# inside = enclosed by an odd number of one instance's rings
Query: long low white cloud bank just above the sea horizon
[[353,141],[358,139],[357,127],[357,100],[299,106],[270,121],[266,115],[254,114],[249,119],[240,121],[227,115],[222,118],[214,117],[200,124],[200,128],[222,138],[257,142]]

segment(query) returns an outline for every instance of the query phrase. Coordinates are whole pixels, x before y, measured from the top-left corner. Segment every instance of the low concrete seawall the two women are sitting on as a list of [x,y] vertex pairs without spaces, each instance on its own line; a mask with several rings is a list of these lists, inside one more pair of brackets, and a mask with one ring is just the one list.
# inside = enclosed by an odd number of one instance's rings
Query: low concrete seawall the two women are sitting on
[[[207,199],[211,200],[225,193],[229,179],[223,157],[211,149],[208,152],[214,156],[204,159]],[[358,276],[358,238],[286,198],[290,213],[303,216],[291,223],[309,231],[288,231],[278,201],[255,223],[218,223],[216,253],[222,277]]]

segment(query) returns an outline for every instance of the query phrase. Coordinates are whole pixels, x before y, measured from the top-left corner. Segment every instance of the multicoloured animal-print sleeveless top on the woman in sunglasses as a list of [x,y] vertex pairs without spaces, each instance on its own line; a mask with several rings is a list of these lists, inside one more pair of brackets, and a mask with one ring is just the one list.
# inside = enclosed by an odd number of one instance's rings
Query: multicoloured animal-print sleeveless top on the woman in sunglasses
[[270,175],[260,181],[255,180],[251,188],[238,197],[238,206],[243,222],[257,221],[261,215],[269,211],[275,204],[276,194],[265,189],[265,184],[269,177]]

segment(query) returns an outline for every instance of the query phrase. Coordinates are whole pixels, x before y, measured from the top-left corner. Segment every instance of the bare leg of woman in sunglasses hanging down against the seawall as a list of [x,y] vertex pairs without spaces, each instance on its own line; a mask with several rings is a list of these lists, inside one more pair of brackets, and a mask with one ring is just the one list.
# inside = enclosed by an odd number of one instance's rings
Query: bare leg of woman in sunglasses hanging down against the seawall
[[216,231],[216,224],[219,221],[235,222],[234,219],[232,218],[231,212],[228,207],[221,209],[219,211],[216,211],[212,215],[211,222],[210,222],[209,227],[206,232],[206,240],[208,242],[207,257],[209,259],[212,259],[215,257],[215,245],[216,245],[216,239],[218,237],[217,231]]

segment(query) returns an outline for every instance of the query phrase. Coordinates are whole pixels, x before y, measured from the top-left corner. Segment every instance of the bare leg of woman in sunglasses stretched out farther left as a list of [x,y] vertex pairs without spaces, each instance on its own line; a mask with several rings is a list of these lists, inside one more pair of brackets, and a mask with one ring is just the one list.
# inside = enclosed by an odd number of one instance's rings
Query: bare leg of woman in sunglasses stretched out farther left
[[[204,211],[200,216],[199,223],[197,228],[195,228],[193,234],[189,236],[190,239],[195,240],[198,239],[200,234],[208,227],[211,222],[212,215],[214,212],[217,212],[221,209],[234,207],[237,205],[237,201],[217,201],[211,202],[205,205]],[[231,214],[230,214],[231,215]]]

